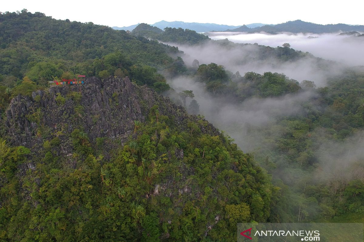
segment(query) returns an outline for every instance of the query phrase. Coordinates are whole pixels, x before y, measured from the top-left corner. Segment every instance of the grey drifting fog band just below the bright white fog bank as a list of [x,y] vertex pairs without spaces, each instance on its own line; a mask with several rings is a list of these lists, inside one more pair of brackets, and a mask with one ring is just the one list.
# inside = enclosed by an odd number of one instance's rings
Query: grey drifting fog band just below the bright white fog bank
[[196,59],[200,65],[213,62],[223,65],[226,70],[233,73],[239,71],[241,75],[249,71],[260,74],[271,71],[273,73],[284,73],[289,78],[299,82],[303,80],[313,81],[317,86],[325,85],[328,76],[337,74],[343,67],[343,65],[330,63],[329,66],[322,68],[317,62],[317,58],[312,56],[289,62],[282,62],[272,56],[261,59],[260,49],[254,45],[223,47],[216,42],[209,42],[198,46],[176,46],[185,53],[182,58],[187,66],[191,66],[192,62]]

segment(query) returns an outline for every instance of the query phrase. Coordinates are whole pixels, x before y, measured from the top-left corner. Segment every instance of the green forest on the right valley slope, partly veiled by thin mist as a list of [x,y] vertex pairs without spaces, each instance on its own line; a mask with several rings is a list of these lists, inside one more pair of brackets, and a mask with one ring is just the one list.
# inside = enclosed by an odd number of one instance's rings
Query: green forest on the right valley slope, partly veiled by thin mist
[[[295,81],[282,74],[246,73],[244,79],[240,81],[252,89],[245,97],[301,92]],[[359,192],[363,180],[355,175],[363,172],[361,158],[345,155],[356,149],[352,147],[361,136],[356,134],[364,127],[363,81],[363,73],[353,70],[330,78],[323,88],[315,89],[313,82],[305,81],[302,88],[310,89],[314,97],[297,103],[294,115],[280,115],[265,127],[244,130],[243,137],[261,138],[254,144],[259,147],[255,157],[281,188],[276,191],[281,198],[273,202],[269,221],[335,221],[336,217],[342,221],[350,217],[346,214],[363,211]],[[240,132],[240,126],[232,130]],[[312,179],[313,174],[317,179]],[[252,212],[261,199],[254,196]]]

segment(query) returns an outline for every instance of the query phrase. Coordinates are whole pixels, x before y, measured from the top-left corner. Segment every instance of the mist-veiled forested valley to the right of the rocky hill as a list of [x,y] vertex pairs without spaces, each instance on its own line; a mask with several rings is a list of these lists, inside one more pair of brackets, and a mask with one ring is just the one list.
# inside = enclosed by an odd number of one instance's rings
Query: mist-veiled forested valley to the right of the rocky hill
[[[364,71],[348,69],[320,88],[278,73],[236,73],[230,79],[228,73],[215,63],[202,64],[194,78],[215,100],[215,110],[206,111],[207,117],[234,134],[237,144],[255,147],[255,160],[281,188],[284,195],[273,206],[269,221],[362,222]],[[292,98],[300,96],[305,98]],[[240,112],[237,103],[252,100],[255,104],[247,105],[267,105],[265,99],[277,102],[283,97],[294,108],[280,111],[291,106],[273,106],[274,120],[264,125],[244,123],[235,114],[229,121],[219,118],[229,105]],[[202,113],[204,108],[208,110],[200,105]]]

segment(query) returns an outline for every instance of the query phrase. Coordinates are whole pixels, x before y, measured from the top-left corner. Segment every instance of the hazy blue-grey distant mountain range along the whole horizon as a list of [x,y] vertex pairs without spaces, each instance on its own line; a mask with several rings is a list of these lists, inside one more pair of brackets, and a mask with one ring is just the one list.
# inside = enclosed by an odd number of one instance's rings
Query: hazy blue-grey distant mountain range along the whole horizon
[[[182,22],[182,21],[160,21],[154,24],[160,29],[166,27],[171,28],[182,28],[195,30],[198,33],[211,32],[211,31],[230,31],[230,32],[248,32],[248,33],[280,33],[280,32],[291,32],[291,33],[335,33],[335,32],[352,32],[359,31],[364,32],[364,25],[348,25],[348,24],[314,24],[311,22],[305,22],[302,20],[288,21],[282,24],[246,24],[240,26],[222,25],[222,24],[202,24],[197,22]],[[138,24],[126,26],[126,27],[112,27],[119,30],[133,30]]]

